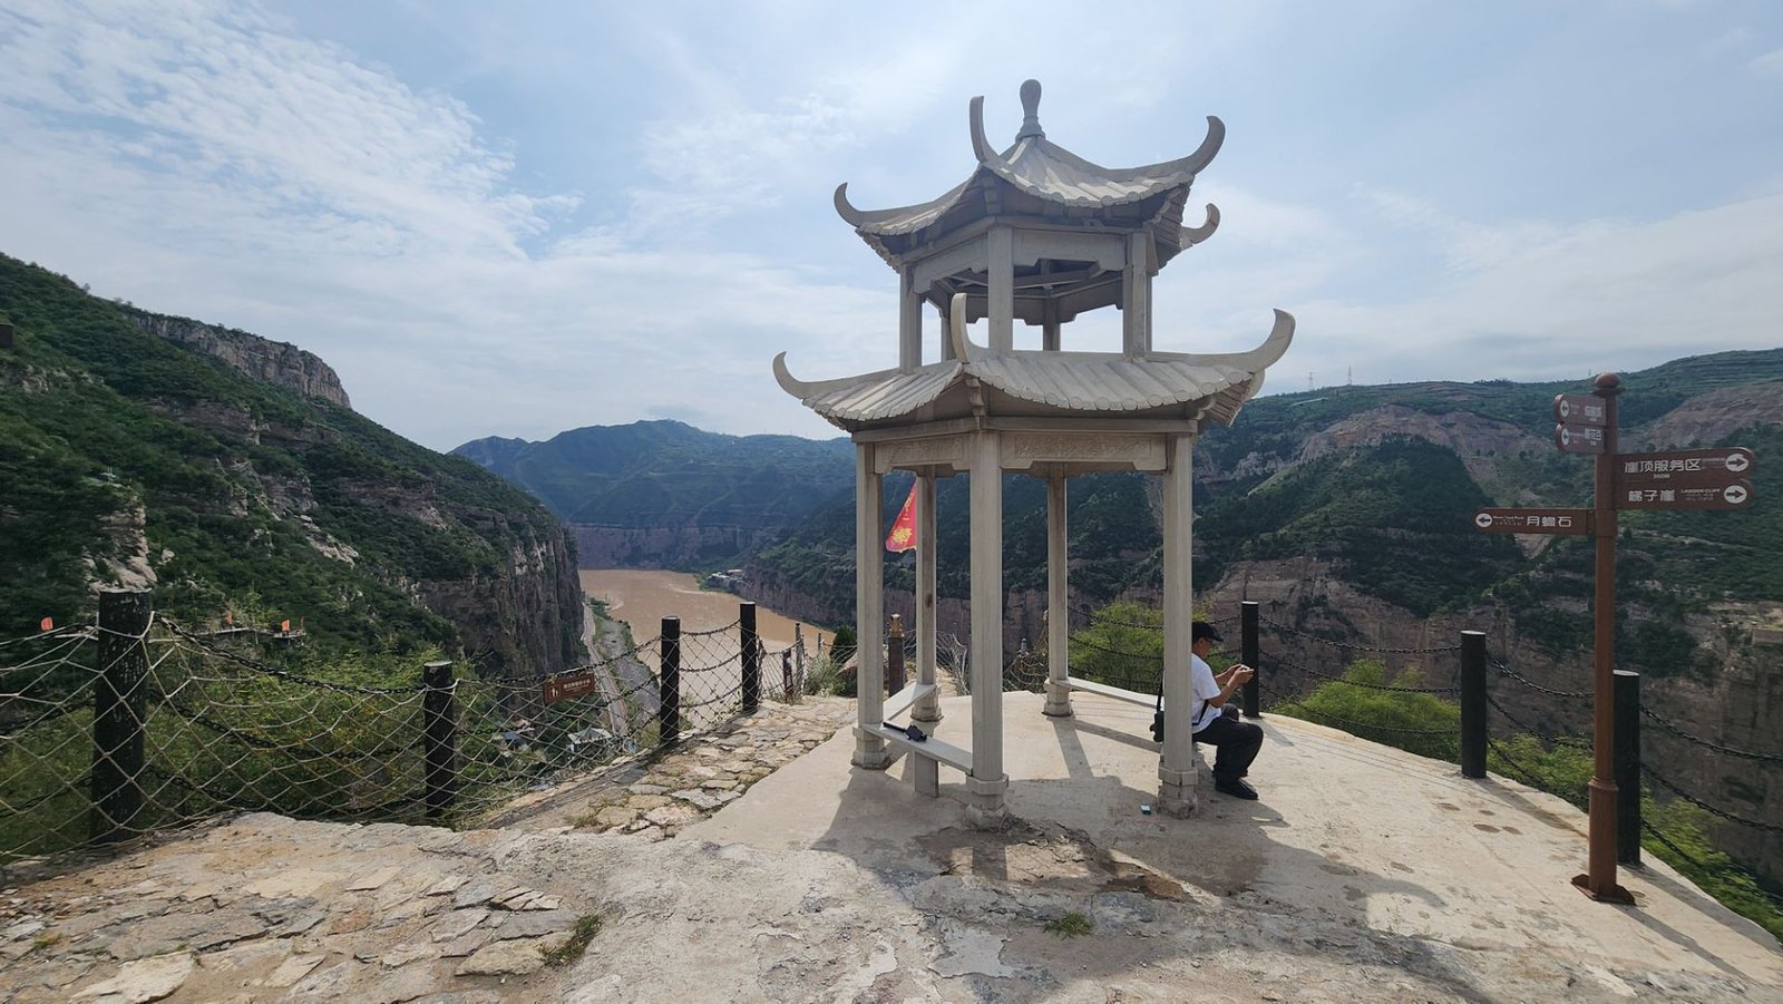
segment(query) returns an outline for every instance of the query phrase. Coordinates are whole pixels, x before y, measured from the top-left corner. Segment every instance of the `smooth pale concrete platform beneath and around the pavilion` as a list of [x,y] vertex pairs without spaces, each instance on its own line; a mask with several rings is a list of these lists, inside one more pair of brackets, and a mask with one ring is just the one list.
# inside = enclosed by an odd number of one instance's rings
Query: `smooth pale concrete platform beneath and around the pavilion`
[[[941,738],[970,742],[968,701],[943,701]],[[1582,895],[1585,817],[1542,792],[1266,717],[1259,801],[1204,772],[1196,815],[1146,815],[1150,710],[1079,694],[1073,719],[1048,719],[1041,704],[1006,695],[1002,831],[966,826],[957,772],[931,799],[904,761],[852,767],[843,729],[681,840],[820,851],[877,876],[868,917],[931,936],[927,958],[895,952],[922,979],[886,983],[892,999],[950,975],[993,999],[1783,1000],[1778,942],[1664,863],[1623,870],[1635,906]],[[1041,933],[1072,911],[1093,931]],[[899,943],[915,947],[884,947]]]

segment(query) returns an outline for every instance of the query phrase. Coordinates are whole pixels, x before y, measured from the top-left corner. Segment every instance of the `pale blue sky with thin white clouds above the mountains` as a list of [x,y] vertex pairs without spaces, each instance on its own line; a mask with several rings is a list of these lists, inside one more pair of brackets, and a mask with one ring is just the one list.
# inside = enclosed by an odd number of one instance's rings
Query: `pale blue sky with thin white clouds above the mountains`
[[[0,251],[314,351],[435,449],[831,437],[774,355],[890,367],[899,316],[831,193],[941,194],[970,98],[1006,146],[1029,77],[1109,168],[1225,121],[1189,212],[1223,221],[1157,276],[1154,344],[1289,310],[1264,392],[1783,344],[1771,0],[0,0]],[[1113,310],[1064,328],[1118,344]]]

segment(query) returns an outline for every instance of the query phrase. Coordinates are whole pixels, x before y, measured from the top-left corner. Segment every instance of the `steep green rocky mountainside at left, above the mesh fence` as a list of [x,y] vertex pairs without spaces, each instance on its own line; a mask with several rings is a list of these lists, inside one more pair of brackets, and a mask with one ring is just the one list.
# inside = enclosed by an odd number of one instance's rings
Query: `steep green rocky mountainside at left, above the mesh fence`
[[0,255],[0,637],[107,583],[314,646],[576,660],[574,555],[537,501],[346,407],[292,346],[89,296]]

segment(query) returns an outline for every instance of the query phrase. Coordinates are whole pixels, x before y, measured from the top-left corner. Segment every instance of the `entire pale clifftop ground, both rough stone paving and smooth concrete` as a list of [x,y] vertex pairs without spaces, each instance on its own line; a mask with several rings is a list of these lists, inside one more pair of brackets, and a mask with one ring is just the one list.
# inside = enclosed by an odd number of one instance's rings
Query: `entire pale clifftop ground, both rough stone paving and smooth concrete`
[[995,831],[957,772],[927,799],[852,767],[845,728],[801,756],[783,706],[679,753],[786,760],[667,838],[565,826],[597,778],[503,829],[225,820],[5,890],[0,999],[1783,1000],[1776,940],[1664,865],[1624,872],[1633,908],[1578,893],[1558,799],[1271,717],[1261,801],[1204,776],[1193,819],[1143,815],[1150,710],[1041,704],[1006,697]]

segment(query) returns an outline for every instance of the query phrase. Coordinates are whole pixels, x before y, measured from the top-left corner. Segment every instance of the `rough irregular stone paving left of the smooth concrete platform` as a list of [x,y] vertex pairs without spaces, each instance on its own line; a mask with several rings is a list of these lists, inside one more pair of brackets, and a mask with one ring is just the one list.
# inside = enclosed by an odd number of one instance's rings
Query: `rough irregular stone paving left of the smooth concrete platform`
[[[530,835],[674,836],[827,740],[852,703],[765,704],[674,753],[453,833],[246,815],[0,890],[0,1000],[501,1000],[546,968],[590,890],[503,867]],[[296,865],[294,865],[296,863]],[[569,870],[569,868],[565,868]]]

